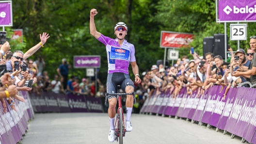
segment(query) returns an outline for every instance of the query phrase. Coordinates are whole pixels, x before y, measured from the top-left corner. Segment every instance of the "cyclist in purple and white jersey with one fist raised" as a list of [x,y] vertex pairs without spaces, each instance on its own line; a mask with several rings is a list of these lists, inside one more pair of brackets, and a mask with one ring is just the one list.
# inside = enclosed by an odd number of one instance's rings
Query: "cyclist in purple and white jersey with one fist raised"
[[[117,85],[120,85],[126,93],[132,93],[134,91],[134,85],[128,74],[129,62],[131,63],[132,72],[135,75],[135,82],[139,84],[141,83],[141,79],[139,75],[139,68],[136,64],[136,59],[134,56],[134,46],[125,40],[125,35],[127,35],[128,31],[127,25],[123,22],[117,23],[114,27],[114,34],[116,35],[116,39],[106,37],[96,31],[94,16],[97,13],[98,12],[96,9],[92,9],[90,12],[90,32],[97,40],[106,45],[109,67],[107,78],[107,93],[116,93]],[[115,106],[117,102],[117,96],[110,95],[107,99],[109,102],[108,114],[110,119],[110,132],[108,138],[110,142],[114,142],[114,117],[116,114]],[[132,106],[133,96],[128,95],[126,99],[126,131],[132,130],[130,122]]]

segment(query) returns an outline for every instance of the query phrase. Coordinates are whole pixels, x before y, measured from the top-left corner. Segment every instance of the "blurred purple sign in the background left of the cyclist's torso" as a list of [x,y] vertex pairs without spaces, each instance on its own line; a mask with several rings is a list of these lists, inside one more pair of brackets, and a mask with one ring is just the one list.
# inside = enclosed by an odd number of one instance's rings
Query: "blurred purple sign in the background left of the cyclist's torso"
[[100,56],[74,56],[74,68],[100,68]]

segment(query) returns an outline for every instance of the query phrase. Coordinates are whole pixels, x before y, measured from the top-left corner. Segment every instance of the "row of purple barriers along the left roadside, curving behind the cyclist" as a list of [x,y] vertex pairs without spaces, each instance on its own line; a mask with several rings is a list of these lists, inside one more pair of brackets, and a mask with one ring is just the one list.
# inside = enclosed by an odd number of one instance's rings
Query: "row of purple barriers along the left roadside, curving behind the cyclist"
[[16,111],[12,110],[5,101],[7,110],[3,111],[0,105],[0,144],[20,143],[22,136],[26,135],[28,121],[34,118],[34,112],[93,112],[103,113],[100,99],[93,97],[56,94],[42,92],[29,94],[18,91],[24,102],[15,100]]

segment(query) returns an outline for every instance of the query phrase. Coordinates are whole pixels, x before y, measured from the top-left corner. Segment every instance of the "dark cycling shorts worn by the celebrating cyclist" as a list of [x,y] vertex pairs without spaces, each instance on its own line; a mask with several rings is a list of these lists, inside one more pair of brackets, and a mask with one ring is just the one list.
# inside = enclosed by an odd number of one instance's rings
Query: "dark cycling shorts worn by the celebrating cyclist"
[[[107,93],[117,93],[118,85],[121,86],[123,91],[125,91],[126,86],[132,86],[134,88],[129,74],[123,72],[109,73],[107,78]],[[111,98],[117,98],[117,95],[109,95],[108,100]]]

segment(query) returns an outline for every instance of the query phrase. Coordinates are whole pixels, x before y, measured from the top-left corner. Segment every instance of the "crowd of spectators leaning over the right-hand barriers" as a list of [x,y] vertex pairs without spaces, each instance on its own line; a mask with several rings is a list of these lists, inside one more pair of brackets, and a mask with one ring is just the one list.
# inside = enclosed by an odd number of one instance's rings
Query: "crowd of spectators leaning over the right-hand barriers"
[[[205,59],[197,53],[190,53],[193,59],[182,56],[171,67],[164,68],[162,64],[153,65],[151,71],[143,72],[142,88],[146,96],[150,98],[155,91],[160,94],[162,91],[171,89],[172,96],[176,98],[182,87],[186,87],[188,94],[197,91],[199,97],[210,86],[227,86],[224,98],[230,87],[250,87],[245,82],[256,84],[256,36],[250,37],[250,48],[247,52],[238,49],[233,52],[229,48],[229,62],[212,53],[206,53]],[[251,86],[254,87],[254,86]]]

